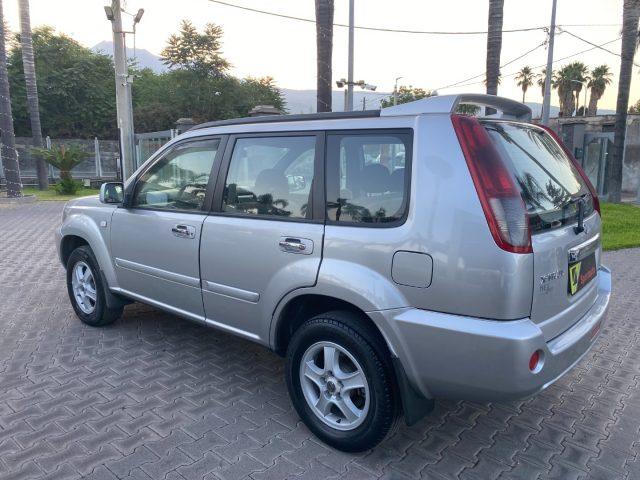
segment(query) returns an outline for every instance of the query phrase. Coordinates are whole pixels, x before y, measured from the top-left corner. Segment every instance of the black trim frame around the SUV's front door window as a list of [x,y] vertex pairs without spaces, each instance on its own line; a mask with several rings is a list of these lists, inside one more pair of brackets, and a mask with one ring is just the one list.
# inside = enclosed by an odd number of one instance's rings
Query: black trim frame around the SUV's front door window
[[[162,160],[164,160],[167,155],[170,155],[172,152],[174,152],[176,149],[178,148],[182,148],[185,145],[188,145],[189,143],[195,143],[195,142],[202,142],[202,141],[208,141],[208,140],[218,140],[218,149],[216,151],[216,155],[213,158],[213,164],[211,165],[211,171],[209,172],[209,181],[207,182],[207,188],[205,191],[205,197],[204,197],[204,201],[202,202],[202,207],[200,207],[200,209],[198,210],[186,210],[186,209],[167,209],[167,208],[160,208],[160,207],[146,207],[146,206],[140,206],[140,205],[134,205],[134,198],[135,198],[135,194],[136,194],[136,190],[138,187],[138,183],[141,179],[141,177],[147,173],[151,168],[153,168],[155,165],[158,164],[158,162],[161,162]],[[211,202],[213,200],[213,193],[214,193],[214,187],[215,187],[215,181],[216,178],[218,176],[218,172],[220,171],[220,164],[222,163],[222,155],[225,151],[226,145],[227,145],[227,140],[228,140],[228,135],[202,135],[202,136],[195,136],[195,137],[189,137],[189,138],[185,138],[183,140],[177,141],[176,143],[172,144],[170,147],[168,147],[166,150],[164,150],[162,153],[160,153],[157,158],[155,158],[152,162],[150,162],[143,170],[141,170],[135,177],[135,179],[133,180],[133,182],[131,183],[131,189],[130,189],[130,204],[124,206],[124,208],[127,208],[129,210],[149,210],[149,211],[154,211],[154,212],[171,212],[171,213],[189,213],[189,214],[206,214],[209,209],[211,208]]]

